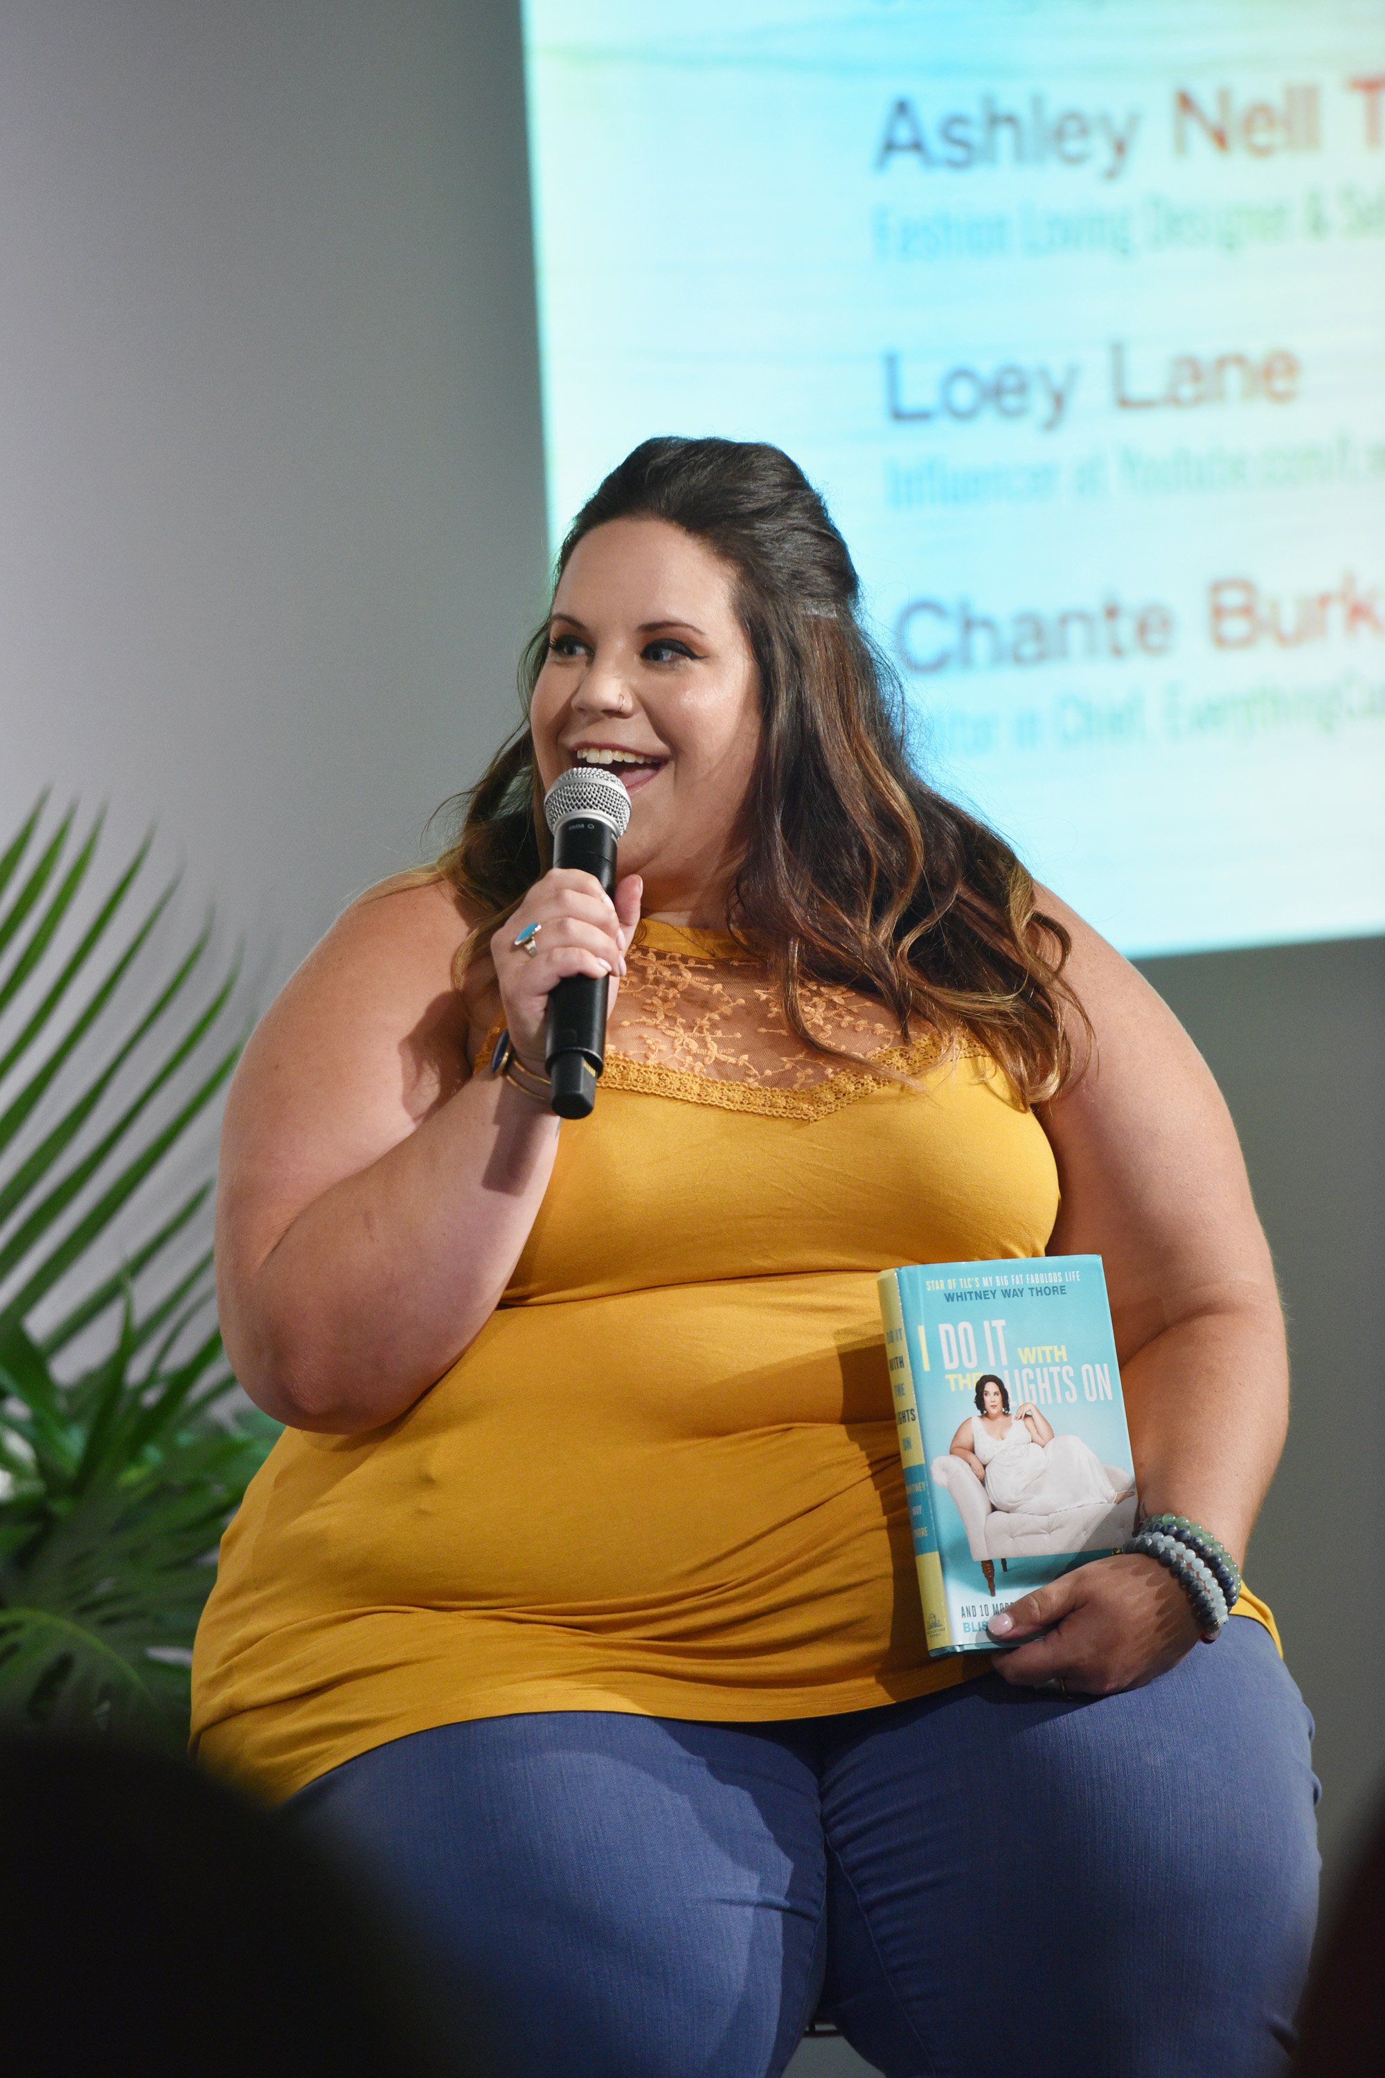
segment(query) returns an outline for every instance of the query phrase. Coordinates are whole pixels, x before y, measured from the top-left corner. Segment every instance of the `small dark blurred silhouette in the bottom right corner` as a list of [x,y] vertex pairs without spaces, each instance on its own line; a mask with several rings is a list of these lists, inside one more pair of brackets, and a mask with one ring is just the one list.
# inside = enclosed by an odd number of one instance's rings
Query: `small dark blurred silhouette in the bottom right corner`
[[1385,1810],[1377,1812],[1300,2012],[1294,2078],[1385,2072]]

